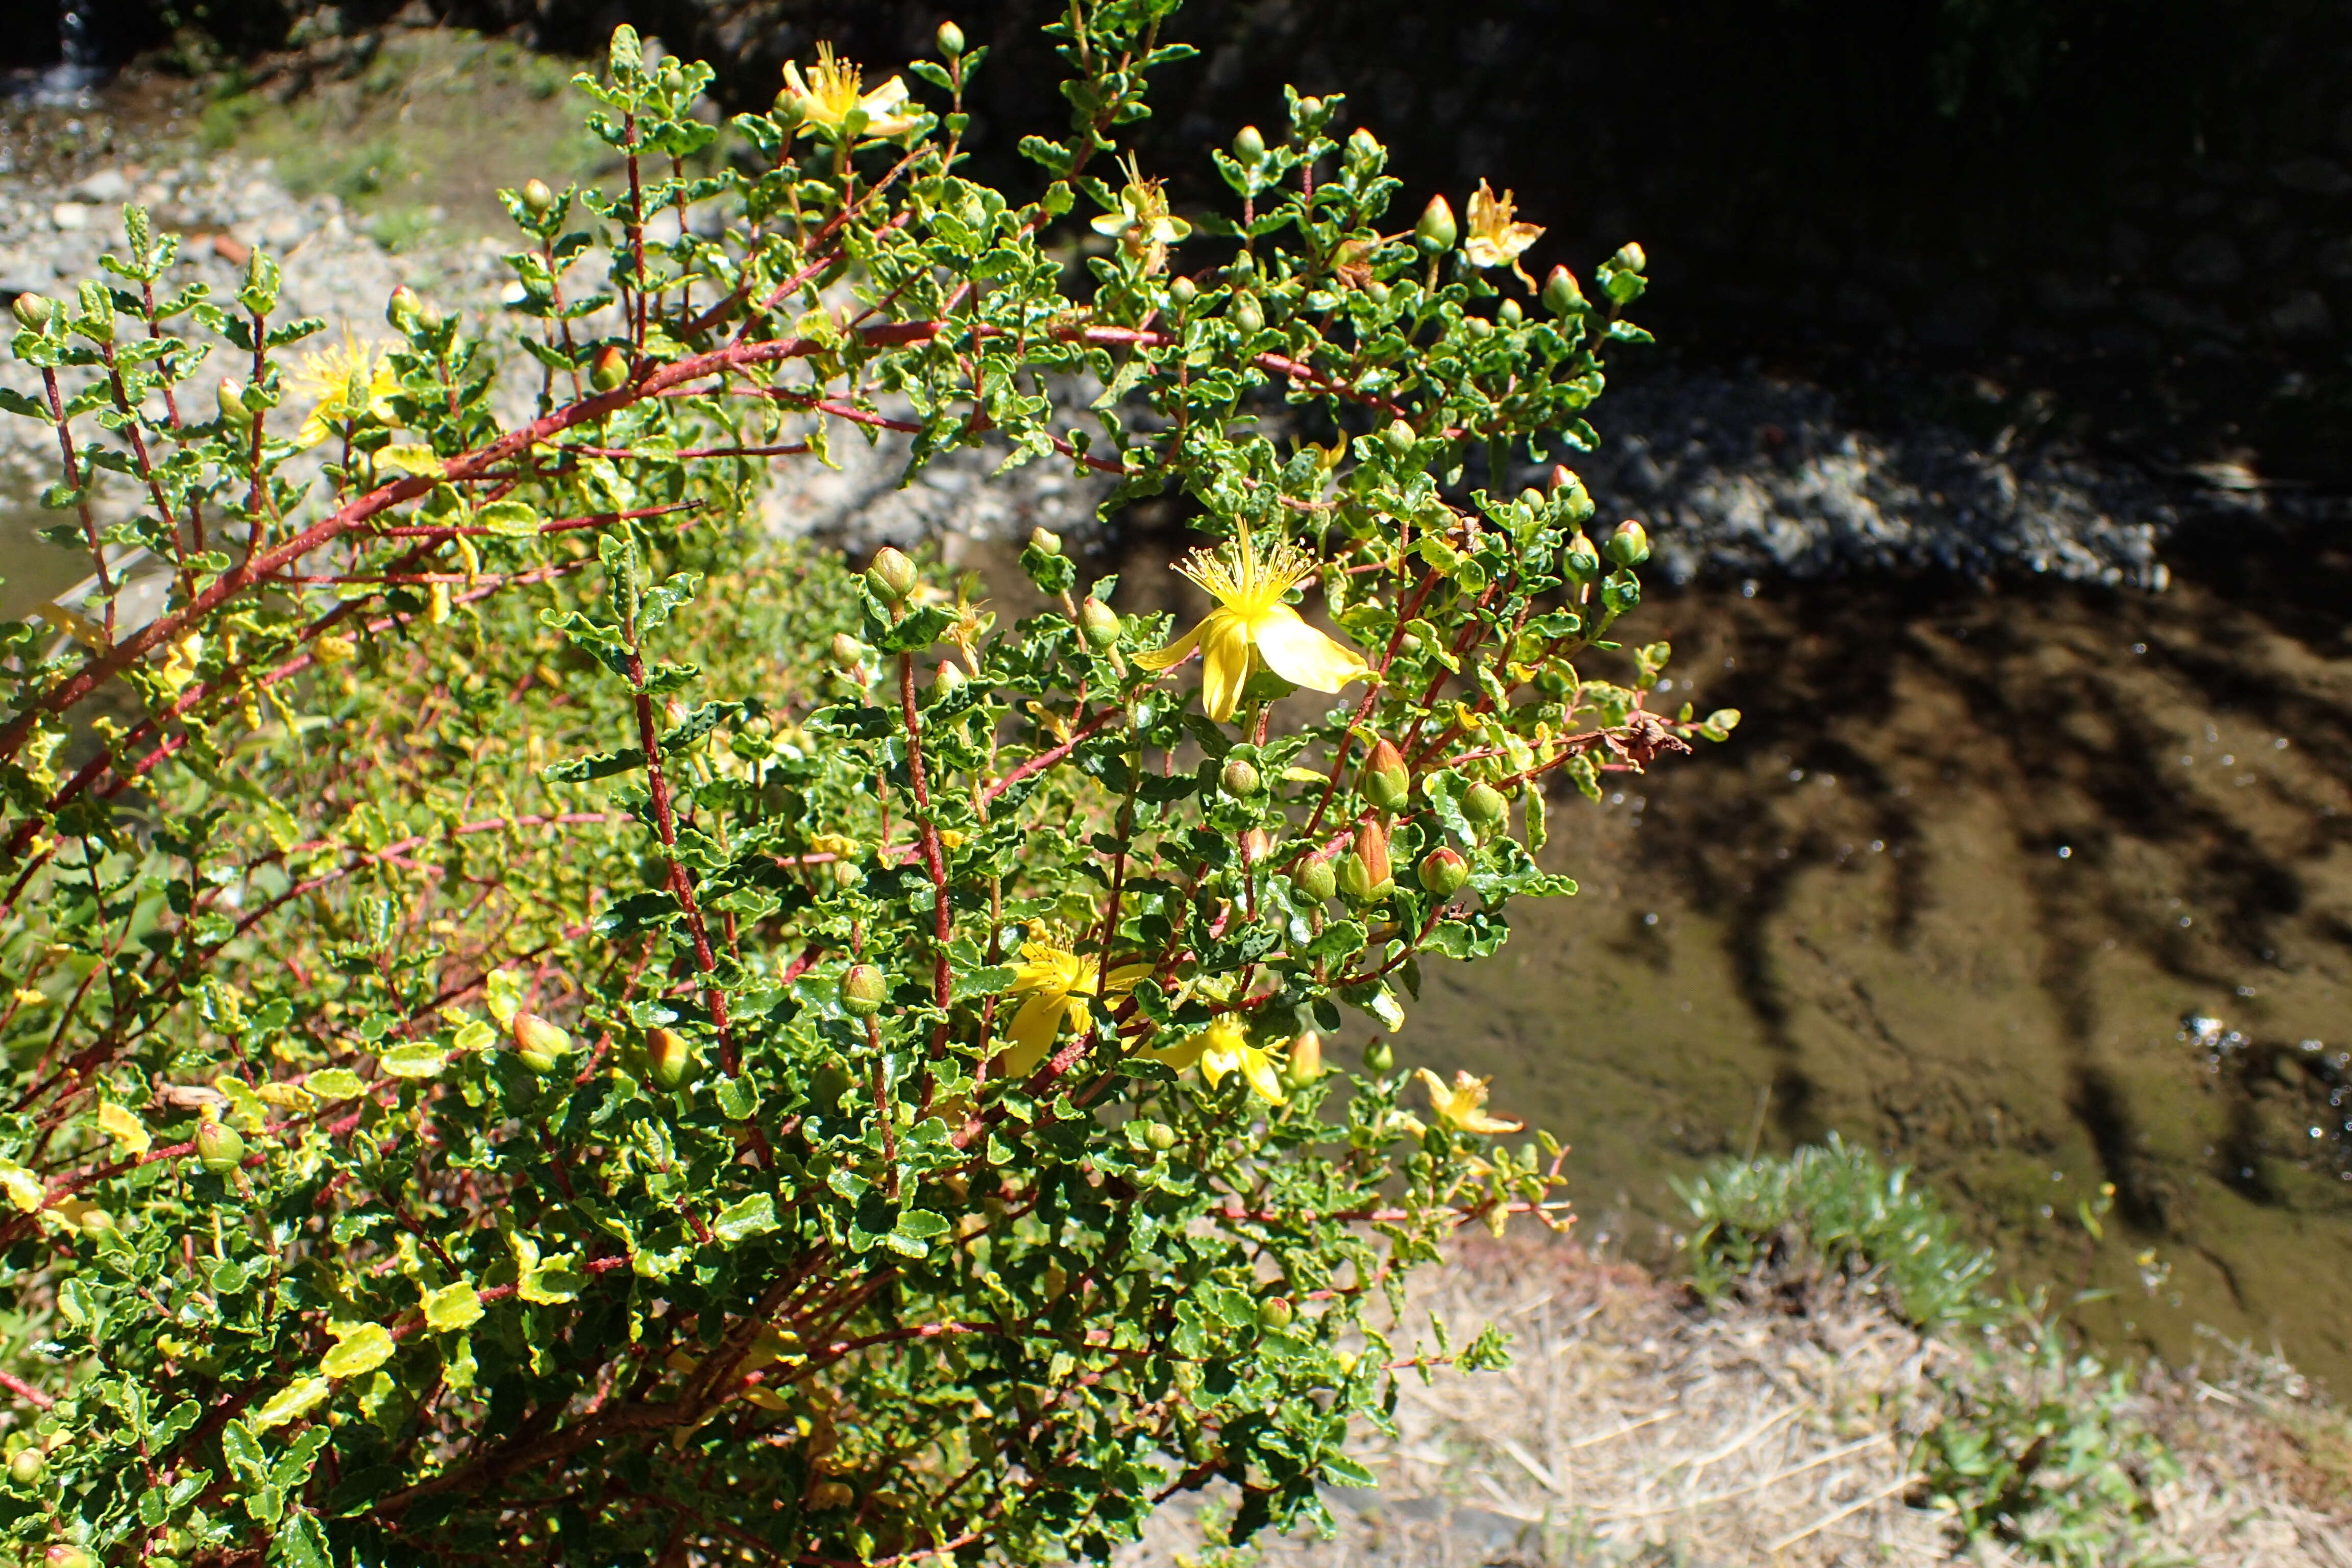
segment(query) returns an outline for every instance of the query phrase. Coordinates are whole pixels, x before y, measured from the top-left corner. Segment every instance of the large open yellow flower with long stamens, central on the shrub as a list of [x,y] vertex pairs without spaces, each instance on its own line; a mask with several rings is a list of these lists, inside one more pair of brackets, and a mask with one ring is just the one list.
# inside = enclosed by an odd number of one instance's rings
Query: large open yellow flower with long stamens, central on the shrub
[[1157,654],[1136,654],[1136,663],[1171,670],[1197,646],[1204,665],[1200,705],[1218,724],[1232,719],[1232,710],[1242,705],[1242,684],[1261,663],[1312,691],[1338,691],[1371,675],[1355,649],[1331,642],[1282,602],[1282,595],[1315,576],[1315,557],[1305,550],[1277,543],[1261,555],[1244,522],[1237,541],[1195,550],[1178,571],[1207,588],[1216,609]]

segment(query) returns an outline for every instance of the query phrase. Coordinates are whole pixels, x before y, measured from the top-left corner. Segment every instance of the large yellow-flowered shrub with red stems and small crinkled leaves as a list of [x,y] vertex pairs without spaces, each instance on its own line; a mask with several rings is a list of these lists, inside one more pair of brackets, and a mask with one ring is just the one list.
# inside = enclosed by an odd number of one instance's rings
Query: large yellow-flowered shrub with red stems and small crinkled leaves
[[[1590,440],[1642,256],[1498,294],[1538,230],[1383,233],[1338,99],[1174,216],[1108,158],[1169,9],[1056,24],[1025,205],[955,174],[955,28],[724,132],[623,28],[581,89],[626,186],[506,193],[513,425],[503,336],[402,289],[303,355],[268,256],[160,292],[139,212],[16,301],[0,402],[96,571],[0,628],[21,1559],[1051,1561],[1211,1476],[1319,1516],[1402,1371],[1496,1361],[1367,1307],[1564,1225],[1559,1147],[1322,1041],[1573,891],[1545,778],[1736,717],[1646,712],[1665,649],[1606,639],[1639,527],[1458,484]],[[1214,609],[1122,616],[1040,534],[1061,609],[1000,625],[760,536],[769,461],[880,430],[1183,491]]]

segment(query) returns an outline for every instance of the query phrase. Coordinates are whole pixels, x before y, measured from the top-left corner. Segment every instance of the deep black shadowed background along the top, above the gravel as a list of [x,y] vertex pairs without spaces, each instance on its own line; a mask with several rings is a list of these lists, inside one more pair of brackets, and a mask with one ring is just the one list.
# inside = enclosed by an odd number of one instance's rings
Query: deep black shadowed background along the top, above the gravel
[[[33,0],[42,5],[42,0]],[[833,38],[889,66],[950,9],[856,0],[92,0],[115,61],[268,59],[386,21],[586,54],[635,21],[731,106]],[[1061,120],[1037,0],[955,7],[990,42],[981,174]],[[2352,480],[2352,7],[2319,0],[1195,0],[1148,155],[1348,92],[1418,205],[1477,176],[1548,223],[1541,263],[1642,240],[1642,320],[1691,364],[1785,369],[1863,418],[2060,435],[2154,468]],[[9,31],[16,66],[54,54]],[[1211,200],[1204,183],[1178,202]],[[1409,216],[1409,214],[1399,214]],[[1541,270],[1541,268],[1538,268]]]

